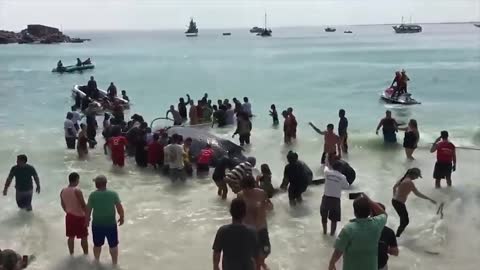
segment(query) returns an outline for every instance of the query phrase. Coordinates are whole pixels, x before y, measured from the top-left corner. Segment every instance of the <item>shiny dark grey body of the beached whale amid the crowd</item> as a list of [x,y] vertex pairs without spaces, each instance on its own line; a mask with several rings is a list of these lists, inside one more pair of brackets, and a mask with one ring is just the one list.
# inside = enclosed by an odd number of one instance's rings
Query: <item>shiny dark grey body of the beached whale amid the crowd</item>
[[243,148],[229,140],[219,138],[205,129],[191,128],[191,127],[171,127],[168,129],[168,136],[178,134],[183,139],[192,138],[192,146],[190,147],[190,155],[193,157],[192,161],[196,161],[200,151],[205,148],[207,144],[212,145],[214,151],[212,166],[215,166],[216,161],[221,157],[227,156],[231,153],[231,157],[236,162],[245,161],[247,158],[242,154]]

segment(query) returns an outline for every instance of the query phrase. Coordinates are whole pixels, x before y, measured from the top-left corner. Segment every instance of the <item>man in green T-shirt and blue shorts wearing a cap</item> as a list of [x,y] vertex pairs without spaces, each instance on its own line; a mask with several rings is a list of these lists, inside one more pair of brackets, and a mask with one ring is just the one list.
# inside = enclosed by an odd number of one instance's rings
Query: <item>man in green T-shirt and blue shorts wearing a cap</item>
[[[93,179],[96,191],[92,192],[88,197],[86,217],[87,225],[92,219],[92,236],[93,236],[93,255],[95,260],[100,260],[102,246],[107,238],[110,247],[110,255],[112,256],[112,264],[118,263],[118,229],[116,212],[118,212],[118,225],[123,225],[124,211],[120,198],[115,191],[107,189],[107,178],[99,175]],[[115,211],[116,210],[116,211]]]

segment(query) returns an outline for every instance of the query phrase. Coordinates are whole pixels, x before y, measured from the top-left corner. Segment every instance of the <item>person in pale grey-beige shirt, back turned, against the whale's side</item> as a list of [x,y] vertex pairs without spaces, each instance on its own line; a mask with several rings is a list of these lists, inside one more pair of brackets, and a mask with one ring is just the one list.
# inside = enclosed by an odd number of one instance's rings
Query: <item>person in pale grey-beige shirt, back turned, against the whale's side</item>
[[178,134],[173,134],[171,140],[172,143],[167,145],[164,149],[164,162],[169,167],[168,171],[172,182],[175,182],[177,179],[185,181],[185,164],[183,162],[185,152],[181,145],[182,137]]

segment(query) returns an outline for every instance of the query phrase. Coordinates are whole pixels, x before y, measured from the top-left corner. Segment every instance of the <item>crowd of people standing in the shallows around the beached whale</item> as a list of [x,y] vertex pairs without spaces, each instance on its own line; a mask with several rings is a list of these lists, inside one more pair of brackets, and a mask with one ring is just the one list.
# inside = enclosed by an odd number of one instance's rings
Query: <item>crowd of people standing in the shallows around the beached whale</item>
[[[96,89],[96,82],[92,77],[89,85]],[[116,87],[112,83],[108,95],[116,96]],[[252,132],[252,106],[247,97],[244,103],[236,98],[233,105],[228,99],[218,100],[217,105],[205,94],[195,102],[187,95],[179,99],[178,107],[170,106],[167,111],[173,117],[174,125],[182,125],[187,121],[191,126],[198,124],[217,124],[218,127],[237,124],[233,136],[239,135],[240,145],[250,144]],[[190,109],[187,113],[187,105]],[[273,125],[279,124],[276,106],[272,104],[269,114]],[[313,123],[309,125],[324,138],[321,164],[324,166],[324,194],[320,202],[321,224],[324,234],[328,234],[330,221],[330,235],[335,236],[337,223],[341,221],[342,190],[349,189],[355,180],[355,171],[350,165],[341,160],[342,154],[348,153],[348,119],[345,110],[339,110],[339,124],[337,133],[333,124],[328,124],[326,130],[321,130]],[[284,117],[284,142],[290,144],[296,139],[297,120],[293,109],[282,111]],[[81,123],[85,117],[85,123]],[[267,226],[267,212],[273,209],[271,198],[279,192],[286,191],[290,205],[295,207],[303,202],[302,194],[309,185],[314,184],[313,173],[301,160],[299,155],[290,151],[287,164],[284,168],[283,181],[279,188],[272,185],[272,173],[268,164],[262,164],[261,174],[254,178],[253,168],[257,161],[248,157],[243,161],[236,161],[226,155],[213,164],[214,150],[206,145],[198,156],[192,156],[190,147],[192,138],[183,138],[179,134],[168,134],[168,130],[153,131],[141,115],[134,114],[126,122],[121,109],[105,113],[102,135],[105,139],[104,151],[110,153],[114,166],[125,166],[125,157],[134,157],[137,166],[148,167],[167,173],[172,181],[185,181],[193,175],[196,168],[197,176],[209,174],[214,165],[212,179],[217,186],[217,194],[222,199],[227,198],[229,189],[236,194],[230,205],[232,223],[222,226],[215,236],[213,244],[213,268],[220,269],[268,269],[266,258],[272,248]],[[385,143],[396,143],[396,132],[405,131],[403,146],[408,159],[413,159],[413,152],[419,141],[417,122],[411,119],[408,126],[402,128],[387,111],[377,127],[382,128]],[[87,110],[82,116],[76,107],[67,113],[64,122],[65,140],[68,149],[77,149],[79,158],[86,158],[89,149],[97,145],[98,124],[96,113]],[[233,137],[232,136],[232,137]],[[449,141],[447,131],[432,144],[430,151],[437,153],[437,162],[434,168],[435,186],[440,187],[441,179],[452,185],[451,173],[456,169],[455,146]],[[398,256],[396,238],[400,237],[409,224],[409,214],[406,202],[410,193],[437,202],[415,187],[414,181],[421,178],[418,168],[408,169],[405,175],[393,186],[392,206],[400,217],[400,224],[396,234],[385,226],[387,214],[383,204],[374,202],[366,194],[357,194],[353,198],[355,219],[344,225],[334,245],[334,251],[329,263],[329,270],[336,269],[336,263],[343,257],[343,269],[387,269],[388,255]],[[27,163],[26,155],[17,157],[17,165],[13,166],[5,183],[3,194],[6,196],[9,186],[15,180],[16,201],[20,209],[32,211],[32,196],[35,191],[40,193],[40,180],[33,166]],[[101,247],[105,239],[110,247],[112,263],[118,262],[118,227],[124,223],[124,210],[118,194],[107,189],[107,178],[99,175],[94,179],[96,191],[90,194],[87,201],[83,197],[78,184],[80,175],[71,173],[69,184],[61,193],[61,206],[64,209],[67,245],[69,253],[74,253],[74,240],[80,239],[84,254],[88,254],[88,226],[91,224],[93,237],[93,253],[95,259],[100,258]],[[352,194],[350,194],[352,195]],[[118,216],[118,220],[117,220]],[[3,254],[3,253],[2,253]],[[223,254],[223,255],[222,255]],[[2,255],[3,258],[4,256]],[[2,259],[3,260],[3,259]],[[222,261],[220,263],[220,261]],[[16,270],[16,268],[4,269]],[[240,268],[238,268],[241,266]],[[0,268],[1,269],[1,268]]]

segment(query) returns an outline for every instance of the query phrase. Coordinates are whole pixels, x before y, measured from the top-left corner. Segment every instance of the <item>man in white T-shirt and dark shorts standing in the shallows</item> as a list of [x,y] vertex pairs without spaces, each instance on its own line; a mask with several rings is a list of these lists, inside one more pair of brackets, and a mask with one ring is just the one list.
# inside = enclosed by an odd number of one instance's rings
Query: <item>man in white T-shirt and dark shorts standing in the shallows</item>
[[322,216],[323,234],[327,234],[327,219],[330,219],[331,236],[335,235],[337,222],[340,221],[342,216],[340,205],[342,189],[347,189],[350,186],[345,175],[339,171],[340,169],[341,164],[339,162],[325,166],[325,187],[322,204],[320,205],[320,215]]

